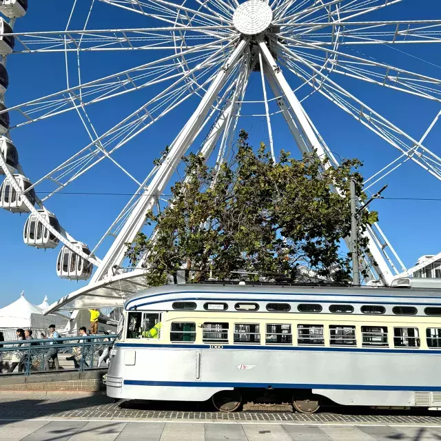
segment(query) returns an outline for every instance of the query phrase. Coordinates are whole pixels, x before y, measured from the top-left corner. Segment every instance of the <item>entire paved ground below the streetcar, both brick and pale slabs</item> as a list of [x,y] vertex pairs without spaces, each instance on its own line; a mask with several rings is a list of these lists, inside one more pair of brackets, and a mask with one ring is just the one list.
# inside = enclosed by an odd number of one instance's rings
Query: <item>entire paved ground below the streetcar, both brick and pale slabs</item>
[[429,411],[217,413],[196,404],[183,410],[189,405],[121,406],[106,396],[0,396],[0,441],[441,441],[441,414]]

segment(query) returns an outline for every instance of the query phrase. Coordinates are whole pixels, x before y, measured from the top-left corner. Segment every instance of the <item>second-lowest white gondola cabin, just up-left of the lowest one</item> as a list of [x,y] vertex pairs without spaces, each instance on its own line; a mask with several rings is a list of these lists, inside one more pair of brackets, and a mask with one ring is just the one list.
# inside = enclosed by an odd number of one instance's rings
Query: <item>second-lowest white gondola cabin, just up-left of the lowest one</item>
[[[37,210],[41,217],[57,232],[60,232],[60,224],[55,215],[45,209]],[[43,225],[39,216],[30,214],[23,229],[23,240],[26,245],[36,248],[55,248],[59,244],[59,238],[52,234]]]

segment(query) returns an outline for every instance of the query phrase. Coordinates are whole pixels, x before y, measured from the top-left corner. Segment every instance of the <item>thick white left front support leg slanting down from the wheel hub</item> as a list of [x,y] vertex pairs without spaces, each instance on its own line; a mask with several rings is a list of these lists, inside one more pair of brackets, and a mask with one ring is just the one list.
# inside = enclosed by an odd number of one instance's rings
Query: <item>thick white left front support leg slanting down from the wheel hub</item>
[[113,265],[121,265],[123,262],[127,243],[132,243],[136,234],[143,227],[146,212],[152,207],[152,204],[156,201],[156,196],[158,193],[162,192],[166,183],[174,174],[174,170],[181,161],[181,157],[187,151],[194,134],[198,132],[198,128],[203,123],[205,116],[216,99],[216,96],[225,85],[240,57],[242,57],[248,42],[249,39],[240,40],[225,64],[220,68],[218,74],[216,74],[212,84],[203,96],[201,103],[199,103],[198,107],[183,127],[183,130],[181,130],[172,145],[170,145],[170,152],[167,154],[161,167],[159,167],[158,172],[156,172],[149,187],[144,192],[143,196],[141,196],[136,207],[134,207],[132,214],[128,218],[127,223],[125,223],[120,234],[112,243],[112,246],[103,258],[101,265],[96,269],[90,283],[100,280]]

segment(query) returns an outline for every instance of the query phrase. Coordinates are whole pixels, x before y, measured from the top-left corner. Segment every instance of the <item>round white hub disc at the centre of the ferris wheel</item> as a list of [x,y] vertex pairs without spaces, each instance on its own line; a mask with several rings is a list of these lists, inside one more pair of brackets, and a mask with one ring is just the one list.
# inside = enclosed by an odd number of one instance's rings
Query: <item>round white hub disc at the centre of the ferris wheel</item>
[[248,0],[233,14],[234,27],[245,35],[256,35],[266,30],[273,19],[273,11],[262,0]]

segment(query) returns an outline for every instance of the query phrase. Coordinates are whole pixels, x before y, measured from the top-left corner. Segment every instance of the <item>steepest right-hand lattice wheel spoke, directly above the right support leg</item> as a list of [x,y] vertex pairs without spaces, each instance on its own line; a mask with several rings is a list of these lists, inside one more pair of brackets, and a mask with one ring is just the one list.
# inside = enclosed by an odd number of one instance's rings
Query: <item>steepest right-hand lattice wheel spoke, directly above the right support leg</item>
[[[412,161],[420,165],[424,170],[427,170],[427,172],[441,180],[441,158],[427,149],[427,147],[424,147],[422,143],[413,139],[406,132],[400,130],[396,125],[393,125],[371,107],[360,101],[360,99],[357,99],[356,96],[353,96],[353,94],[350,94],[347,90],[329,79],[329,76],[320,72],[320,70],[315,68],[308,61],[298,57],[298,55],[288,48],[285,48],[285,52],[291,55],[289,59],[285,59],[291,72],[302,78],[311,88],[314,88],[331,102],[338,105],[338,107],[349,113],[353,118],[362,123],[362,125],[365,125],[365,127],[376,133],[398,151],[409,156]],[[302,69],[300,65],[304,65],[317,74],[321,81],[317,79],[311,81],[312,74]]]

